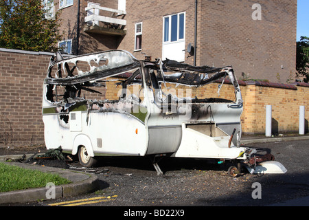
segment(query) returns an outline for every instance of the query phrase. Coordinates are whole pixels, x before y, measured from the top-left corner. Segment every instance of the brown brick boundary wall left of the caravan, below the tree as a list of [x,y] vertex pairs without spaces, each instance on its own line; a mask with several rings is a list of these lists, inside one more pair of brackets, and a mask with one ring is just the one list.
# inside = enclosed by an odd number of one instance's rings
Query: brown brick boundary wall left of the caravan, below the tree
[[0,50],[0,146],[44,143],[42,92],[51,57],[44,54]]

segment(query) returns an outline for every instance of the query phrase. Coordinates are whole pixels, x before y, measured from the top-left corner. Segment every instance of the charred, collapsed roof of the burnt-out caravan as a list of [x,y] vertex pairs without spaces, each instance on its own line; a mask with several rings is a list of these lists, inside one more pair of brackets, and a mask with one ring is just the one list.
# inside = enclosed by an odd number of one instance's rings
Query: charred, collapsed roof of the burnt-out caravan
[[[87,72],[83,72],[82,69],[78,67],[78,63],[80,62],[88,63],[89,69]],[[104,64],[100,65],[102,62]],[[119,73],[128,72],[130,69],[141,67],[142,62],[144,62],[144,66],[150,69],[163,72],[163,74],[158,74],[158,81],[183,85],[206,85],[218,78],[226,76],[229,71],[233,71],[232,67],[216,68],[206,65],[196,67],[168,59],[163,62],[160,60],[155,62],[139,61],[132,54],[124,50],[111,50],[81,56],[72,56],[69,58],[63,58],[60,53],[57,53],[51,58],[45,83],[52,85],[86,83],[91,80],[113,77]],[[69,67],[70,65],[71,67]],[[52,77],[52,67],[57,68],[57,77]],[[73,71],[78,74],[74,76]],[[176,74],[164,74],[164,72],[175,72]],[[211,74],[211,76],[209,76],[209,74]]]

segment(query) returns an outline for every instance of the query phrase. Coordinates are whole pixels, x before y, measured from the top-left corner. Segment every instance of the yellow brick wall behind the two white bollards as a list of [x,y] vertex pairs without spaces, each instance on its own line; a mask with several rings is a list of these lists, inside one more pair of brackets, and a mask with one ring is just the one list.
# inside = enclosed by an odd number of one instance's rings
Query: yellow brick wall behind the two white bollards
[[306,109],[306,130],[309,120],[309,84],[283,85],[247,82],[242,87],[244,113],[242,129],[245,133],[265,133],[266,105],[272,105],[273,133],[298,132],[299,106]]

